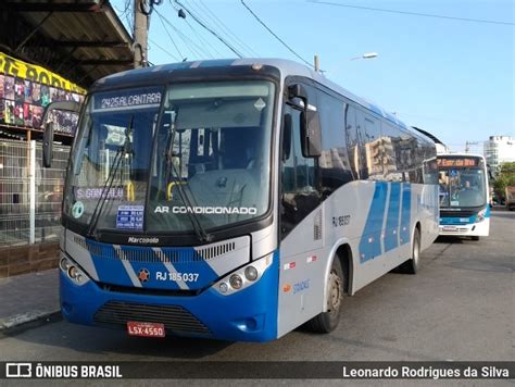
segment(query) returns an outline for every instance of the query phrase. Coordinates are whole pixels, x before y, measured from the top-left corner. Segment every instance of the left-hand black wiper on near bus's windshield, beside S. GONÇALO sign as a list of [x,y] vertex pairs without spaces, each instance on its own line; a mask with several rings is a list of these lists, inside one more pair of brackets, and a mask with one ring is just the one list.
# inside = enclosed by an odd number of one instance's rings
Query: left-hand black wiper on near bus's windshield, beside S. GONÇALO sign
[[114,178],[116,176],[116,173],[120,170],[120,165],[122,165],[122,160],[125,154],[133,154],[133,143],[130,142],[129,135],[133,132],[133,125],[134,125],[134,114],[130,116],[130,122],[125,130],[125,141],[123,146],[120,146],[118,149],[116,149],[116,153],[114,154],[113,163],[111,164],[111,168],[109,170],[109,175],[108,178],[105,179],[105,183],[102,187],[102,191],[100,192],[100,198],[97,201],[97,205],[95,207],[93,213],[91,214],[91,220],[89,223],[89,228],[87,233],[87,237],[93,237],[95,239],[97,238],[97,225],[100,219],[100,215],[102,214],[103,205],[105,201],[108,201],[109,192],[111,191],[111,188],[113,187]]

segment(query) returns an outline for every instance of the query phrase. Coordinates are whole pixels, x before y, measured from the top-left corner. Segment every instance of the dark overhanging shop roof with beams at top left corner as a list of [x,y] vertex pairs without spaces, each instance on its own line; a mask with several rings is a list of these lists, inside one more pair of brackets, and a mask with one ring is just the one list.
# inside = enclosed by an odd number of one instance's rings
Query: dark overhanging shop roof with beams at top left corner
[[131,47],[108,0],[0,1],[0,51],[84,88],[133,68]]

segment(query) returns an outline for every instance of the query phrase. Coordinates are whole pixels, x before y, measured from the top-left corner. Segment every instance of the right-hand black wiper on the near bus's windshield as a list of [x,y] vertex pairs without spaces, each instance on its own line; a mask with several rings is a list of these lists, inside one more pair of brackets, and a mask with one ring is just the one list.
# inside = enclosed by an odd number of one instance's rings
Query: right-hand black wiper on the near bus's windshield
[[[175,155],[174,154],[174,139],[175,139],[175,135],[177,133],[177,127],[175,125],[175,122],[177,121],[177,114],[178,114],[175,111],[173,111],[173,113],[174,113],[174,116],[173,116],[172,122],[171,122],[169,142],[167,143],[167,147],[166,147],[166,150],[165,150],[165,152],[166,152],[166,172],[165,172],[165,178],[166,179],[165,179],[165,182],[168,180],[172,171],[173,171],[173,174],[175,175],[175,177],[177,179],[179,179],[179,180],[181,179],[180,173],[175,167],[174,161],[173,161],[173,158]],[[188,215],[188,219],[191,222],[191,225],[193,226],[194,234],[197,235],[199,240],[201,242],[212,241],[213,240],[213,235],[206,233],[205,229],[202,227],[202,224],[200,223],[199,217],[194,213],[193,205],[191,205],[191,200],[188,197],[188,194],[186,192],[186,189],[184,188],[184,185],[183,184],[177,184],[177,185],[175,185],[175,187],[177,187],[180,200],[187,207],[186,214]],[[194,202],[194,205],[197,205],[193,192],[191,191],[191,188],[188,187],[188,190],[189,190],[189,195],[190,195],[192,201]]]

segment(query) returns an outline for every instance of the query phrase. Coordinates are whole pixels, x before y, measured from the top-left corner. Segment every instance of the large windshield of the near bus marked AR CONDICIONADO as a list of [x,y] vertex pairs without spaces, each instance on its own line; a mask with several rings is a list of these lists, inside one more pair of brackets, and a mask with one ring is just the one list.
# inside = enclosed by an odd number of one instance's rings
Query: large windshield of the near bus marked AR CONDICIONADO
[[[91,228],[192,232],[263,215],[274,84],[178,84],[89,97],[64,214]],[[103,200],[106,199],[106,200]]]

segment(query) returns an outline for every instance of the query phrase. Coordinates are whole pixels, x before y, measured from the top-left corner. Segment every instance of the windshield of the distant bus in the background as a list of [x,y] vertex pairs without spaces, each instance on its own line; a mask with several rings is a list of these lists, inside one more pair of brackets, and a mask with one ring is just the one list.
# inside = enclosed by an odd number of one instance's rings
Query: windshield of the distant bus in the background
[[483,168],[440,170],[440,208],[470,208],[487,203]]

